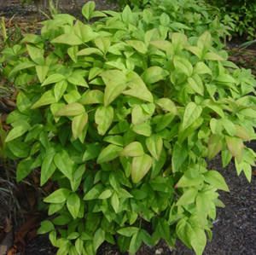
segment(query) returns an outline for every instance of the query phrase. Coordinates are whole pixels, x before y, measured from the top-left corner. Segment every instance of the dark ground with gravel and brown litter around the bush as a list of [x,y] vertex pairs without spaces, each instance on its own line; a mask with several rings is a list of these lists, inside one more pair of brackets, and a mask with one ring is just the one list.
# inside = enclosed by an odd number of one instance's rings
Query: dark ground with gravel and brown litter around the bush
[[[21,31],[34,30],[38,20],[37,9],[32,6],[17,4],[17,0],[0,0],[0,16],[13,18],[12,23],[17,23]],[[72,14],[79,14],[79,8],[85,1],[77,0],[77,5],[72,1],[61,0],[61,9]],[[96,1],[98,9],[116,8],[106,1]],[[15,15],[15,16],[14,16]],[[42,16],[41,16],[42,18]],[[256,73],[256,50],[238,49],[238,43],[231,43],[231,59],[240,67],[249,67]],[[256,143],[252,144],[254,149]],[[218,210],[218,218],[213,227],[213,239],[207,243],[205,255],[254,255],[256,254],[256,177],[252,183],[247,183],[245,177],[237,177],[233,164],[222,170],[220,160],[217,158],[210,162],[212,169],[223,173],[230,187],[230,193],[221,193],[221,200],[225,208]],[[13,242],[19,246],[26,255],[54,255],[55,248],[49,244],[46,235],[36,236],[36,229],[41,216],[38,216],[36,199],[37,193],[27,185],[14,185],[15,181],[7,179],[5,165],[0,162],[0,255],[3,255],[1,246],[12,246]],[[37,177],[30,180],[37,183]],[[26,189],[26,190],[25,190]],[[11,192],[9,192],[11,191]],[[21,194],[21,195],[20,195]],[[28,201],[28,202],[27,202]],[[21,248],[20,248],[21,246]],[[1,253],[2,252],[2,253]],[[15,248],[10,255],[15,254]],[[17,253],[19,254],[19,253]],[[143,246],[137,255],[192,255],[186,247],[177,245],[177,250],[171,251],[164,242],[153,248]],[[104,244],[98,255],[120,255],[118,248]]]

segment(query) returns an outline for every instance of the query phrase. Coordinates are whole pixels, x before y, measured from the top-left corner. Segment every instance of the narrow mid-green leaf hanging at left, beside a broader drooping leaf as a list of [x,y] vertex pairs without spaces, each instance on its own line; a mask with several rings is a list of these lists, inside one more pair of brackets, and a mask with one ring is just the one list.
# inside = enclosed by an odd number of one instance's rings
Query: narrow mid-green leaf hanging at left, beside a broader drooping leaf
[[40,185],[43,186],[48,180],[49,177],[55,172],[56,166],[54,164],[55,149],[49,148],[46,151],[46,154],[43,159],[41,166],[41,176],[40,176]]

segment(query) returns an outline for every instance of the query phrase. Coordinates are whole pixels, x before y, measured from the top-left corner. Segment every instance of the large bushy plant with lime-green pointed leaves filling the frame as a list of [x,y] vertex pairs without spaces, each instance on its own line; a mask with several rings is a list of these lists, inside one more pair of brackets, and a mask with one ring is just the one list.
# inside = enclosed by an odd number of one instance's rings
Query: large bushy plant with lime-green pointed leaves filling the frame
[[58,254],[95,254],[103,241],[134,254],[177,238],[202,254],[218,189],[229,190],[207,159],[234,158],[251,179],[253,76],[227,61],[218,20],[156,3],[119,13],[90,2],[85,22],[55,14],[3,50],[3,75],[20,90],[7,154],[21,159],[18,181],[40,168],[40,184],[53,183],[39,233]]

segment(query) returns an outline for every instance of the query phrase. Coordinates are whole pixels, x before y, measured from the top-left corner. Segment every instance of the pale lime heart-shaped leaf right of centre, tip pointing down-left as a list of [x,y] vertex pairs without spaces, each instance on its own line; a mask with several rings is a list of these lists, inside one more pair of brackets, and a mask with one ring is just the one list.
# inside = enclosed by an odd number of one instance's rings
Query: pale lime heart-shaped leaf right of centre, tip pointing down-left
[[183,115],[183,130],[188,128],[189,125],[192,125],[195,120],[201,116],[201,112],[201,106],[197,106],[193,101],[189,102],[189,104],[185,107],[185,112]]

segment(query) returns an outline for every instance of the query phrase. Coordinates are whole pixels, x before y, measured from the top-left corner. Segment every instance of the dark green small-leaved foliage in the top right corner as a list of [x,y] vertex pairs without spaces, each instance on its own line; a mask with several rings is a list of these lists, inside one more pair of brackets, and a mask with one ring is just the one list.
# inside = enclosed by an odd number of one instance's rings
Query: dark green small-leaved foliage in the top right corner
[[230,23],[235,35],[255,38],[256,3],[247,0],[207,0],[218,7],[224,20]]

